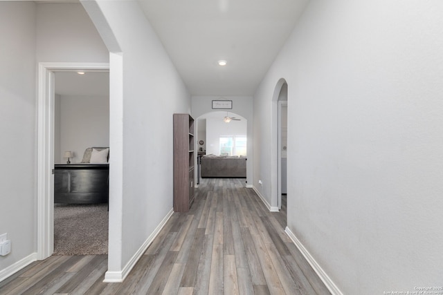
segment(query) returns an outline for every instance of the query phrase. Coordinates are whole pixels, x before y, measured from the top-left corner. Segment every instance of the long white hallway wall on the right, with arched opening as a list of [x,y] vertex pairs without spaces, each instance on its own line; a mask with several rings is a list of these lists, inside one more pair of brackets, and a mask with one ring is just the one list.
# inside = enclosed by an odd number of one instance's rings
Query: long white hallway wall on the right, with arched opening
[[283,77],[288,227],[343,294],[442,285],[442,15],[439,0],[311,1],[255,93],[254,184],[273,173]]

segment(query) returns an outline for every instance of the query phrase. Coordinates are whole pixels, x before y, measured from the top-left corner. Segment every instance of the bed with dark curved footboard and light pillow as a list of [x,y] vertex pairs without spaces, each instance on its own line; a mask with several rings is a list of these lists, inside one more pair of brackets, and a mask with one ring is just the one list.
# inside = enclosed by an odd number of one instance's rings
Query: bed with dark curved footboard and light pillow
[[[106,155],[105,155],[106,154]],[[54,202],[98,204],[109,200],[109,148],[84,151],[78,164],[54,165]]]

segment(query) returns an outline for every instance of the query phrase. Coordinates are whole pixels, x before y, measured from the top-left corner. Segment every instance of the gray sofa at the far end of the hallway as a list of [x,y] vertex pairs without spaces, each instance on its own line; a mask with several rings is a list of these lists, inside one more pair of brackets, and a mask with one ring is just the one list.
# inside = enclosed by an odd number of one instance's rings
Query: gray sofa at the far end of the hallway
[[200,169],[201,178],[246,178],[246,158],[205,155]]

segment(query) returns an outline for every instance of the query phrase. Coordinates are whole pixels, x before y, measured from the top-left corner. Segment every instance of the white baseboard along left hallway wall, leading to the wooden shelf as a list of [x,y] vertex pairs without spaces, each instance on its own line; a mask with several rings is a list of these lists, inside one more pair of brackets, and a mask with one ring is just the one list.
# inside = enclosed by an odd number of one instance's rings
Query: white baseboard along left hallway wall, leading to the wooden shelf
[[123,270],[120,272],[106,272],[104,283],[122,283],[123,280],[127,277],[131,269],[136,265],[137,261],[143,256],[147,247],[150,247],[152,241],[156,236],[160,233],[161,229],[165,226],[166,222],[168,222],[169,218],[171,218],[172,213],[174,213],[174,209],[168,212],[168,214],[161,220],[159,226],[156,227],[154,232],[143,242],[143,245],[136,251],[134,256],[129,259],[128,263],[123,267]]

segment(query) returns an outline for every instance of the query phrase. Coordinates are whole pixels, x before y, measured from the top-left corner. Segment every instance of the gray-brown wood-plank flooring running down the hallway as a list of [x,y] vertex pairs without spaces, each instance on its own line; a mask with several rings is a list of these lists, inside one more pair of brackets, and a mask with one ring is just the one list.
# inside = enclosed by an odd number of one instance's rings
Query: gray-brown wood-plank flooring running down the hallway
[[103,283],[107,256],[51,256],[0,282],[0,294],[329,294],[244,179],[204,179],[123,283]]

